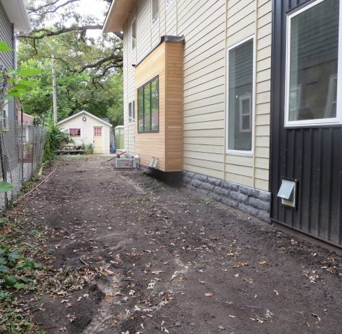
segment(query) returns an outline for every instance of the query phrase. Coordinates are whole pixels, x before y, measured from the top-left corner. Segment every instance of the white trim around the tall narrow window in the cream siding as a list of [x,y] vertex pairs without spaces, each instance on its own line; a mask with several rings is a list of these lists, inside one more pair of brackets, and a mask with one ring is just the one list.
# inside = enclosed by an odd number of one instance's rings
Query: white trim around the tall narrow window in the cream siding
[[[253,79],[252,79],[252,124],[250,125],[252,127],[252,150],[250,151],[240,151],[240,150],[231,150],[228,149],[229,147],[229,51],[232,49],[235,49],[236,47],[239,47],[239,45],[244,44],[245,42],[248,42],[249,40],[253,41]],[[255,60],[256,60],[256,45],[255,45],[255,36],[254,34],[252,36],[248,36],[247,38],[244,38],[244,40],[240,40],[239,42],[231,45],[227,48],[227,59],[226,59],[226,154],[229,155],[242,155],[247,157],[252,157],[254,154],[254,114],[255,114]]]

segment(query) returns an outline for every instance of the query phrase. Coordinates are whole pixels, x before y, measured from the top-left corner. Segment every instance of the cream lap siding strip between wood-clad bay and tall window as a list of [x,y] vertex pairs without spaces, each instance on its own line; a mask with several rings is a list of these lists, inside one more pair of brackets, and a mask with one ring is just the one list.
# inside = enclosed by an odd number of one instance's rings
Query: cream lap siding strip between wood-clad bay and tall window
[[184,51],[184,169],[223,177],[224,8],[218,1],[179,1]]

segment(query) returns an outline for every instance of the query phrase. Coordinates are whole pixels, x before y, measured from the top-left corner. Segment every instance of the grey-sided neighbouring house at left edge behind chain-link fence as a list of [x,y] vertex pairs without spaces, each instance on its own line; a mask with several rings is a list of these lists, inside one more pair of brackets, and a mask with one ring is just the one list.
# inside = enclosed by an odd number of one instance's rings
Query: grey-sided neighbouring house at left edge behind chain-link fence
[[[14,51],[0,52],[0,68],[16,68],[16,31],[29,31],[29,17],[23,0],[0,0],[0,40],[3,40]],[[3,118],[16,119],[16,101],[5,101]]]

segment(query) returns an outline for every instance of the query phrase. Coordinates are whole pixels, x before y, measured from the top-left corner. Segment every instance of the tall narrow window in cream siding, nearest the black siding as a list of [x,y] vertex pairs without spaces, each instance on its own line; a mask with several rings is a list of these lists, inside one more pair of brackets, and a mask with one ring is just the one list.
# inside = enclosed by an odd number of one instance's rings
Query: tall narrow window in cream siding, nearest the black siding
[[228,151],[252,152],[253,38],[228,49]]

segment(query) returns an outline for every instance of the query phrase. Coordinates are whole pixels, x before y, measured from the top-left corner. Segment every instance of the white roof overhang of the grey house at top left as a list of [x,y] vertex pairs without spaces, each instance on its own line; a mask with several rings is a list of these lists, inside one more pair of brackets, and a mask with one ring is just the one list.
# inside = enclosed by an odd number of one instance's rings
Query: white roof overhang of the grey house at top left
[[14,25],[14,30],[27,32],[31,30],[29,16],[23,0],[0,0],[5,12]]

